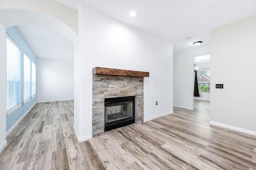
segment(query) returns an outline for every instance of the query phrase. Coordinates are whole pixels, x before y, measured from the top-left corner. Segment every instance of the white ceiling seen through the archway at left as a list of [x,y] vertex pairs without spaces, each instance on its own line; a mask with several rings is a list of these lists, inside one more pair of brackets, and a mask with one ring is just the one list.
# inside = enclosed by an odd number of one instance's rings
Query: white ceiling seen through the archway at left
[[16,26],[36,57],[74,59],[74,43],[62,34],[43,26]]

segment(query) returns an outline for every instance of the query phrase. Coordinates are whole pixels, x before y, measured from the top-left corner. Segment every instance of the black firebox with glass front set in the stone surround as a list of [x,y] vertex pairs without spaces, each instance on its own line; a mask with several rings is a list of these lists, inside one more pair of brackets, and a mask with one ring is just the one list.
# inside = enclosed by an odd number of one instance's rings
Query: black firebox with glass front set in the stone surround
[[135,123],[135,96],[105,98],[105,132]]

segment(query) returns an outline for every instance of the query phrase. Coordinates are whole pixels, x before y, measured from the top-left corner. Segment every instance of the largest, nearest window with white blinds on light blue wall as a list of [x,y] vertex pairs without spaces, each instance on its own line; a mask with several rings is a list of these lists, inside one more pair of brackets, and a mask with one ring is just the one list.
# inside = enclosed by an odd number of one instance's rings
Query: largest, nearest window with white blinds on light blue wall
[[20,47],[6,34],[6,112],[20,104]]

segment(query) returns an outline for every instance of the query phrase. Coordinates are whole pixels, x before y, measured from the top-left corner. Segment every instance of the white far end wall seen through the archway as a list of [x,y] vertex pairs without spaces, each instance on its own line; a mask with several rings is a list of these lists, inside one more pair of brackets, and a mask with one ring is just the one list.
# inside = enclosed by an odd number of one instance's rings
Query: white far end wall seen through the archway
[[37,57],[37,102],[74,99],[74,61]]

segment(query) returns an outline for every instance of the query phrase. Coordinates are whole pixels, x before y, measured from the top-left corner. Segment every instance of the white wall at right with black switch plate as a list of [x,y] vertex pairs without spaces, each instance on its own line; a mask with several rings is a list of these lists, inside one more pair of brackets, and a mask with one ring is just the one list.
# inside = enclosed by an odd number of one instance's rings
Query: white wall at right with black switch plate
[[[211,32],[210,123],[256,135],[256,16]],[[220,43],[221,42],[221,43]]]

